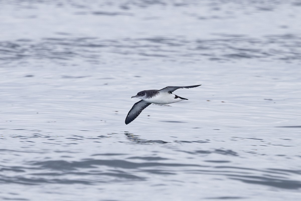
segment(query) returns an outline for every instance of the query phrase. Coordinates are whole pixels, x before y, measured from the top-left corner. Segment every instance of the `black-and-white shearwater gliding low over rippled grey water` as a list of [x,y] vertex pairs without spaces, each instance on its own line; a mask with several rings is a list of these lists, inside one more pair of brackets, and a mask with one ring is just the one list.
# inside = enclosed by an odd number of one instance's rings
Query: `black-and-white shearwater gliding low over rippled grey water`
[[193,88],[201,86],[200,85],[194,85],[194,86],[166,86],[163,89],[160,90],[144,90],[141,92],[138,92],[136,96],[132,96],[132,98],[139,98],[141,101],[136,102],[132,109],[129,111],[128,115],[126,116],[126,124],[131,123],[135,118],[138,117],[138,115],[144,110],[148,105],[154,104],[160,104],[160,105],[166,105],[174,102],[180,102],[183,100],[188,100],[185,98],[182,98],[180,96],[177,96],[173,94],[177,89],[181,88]]

